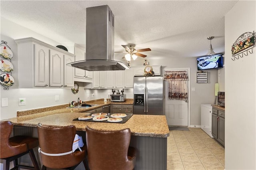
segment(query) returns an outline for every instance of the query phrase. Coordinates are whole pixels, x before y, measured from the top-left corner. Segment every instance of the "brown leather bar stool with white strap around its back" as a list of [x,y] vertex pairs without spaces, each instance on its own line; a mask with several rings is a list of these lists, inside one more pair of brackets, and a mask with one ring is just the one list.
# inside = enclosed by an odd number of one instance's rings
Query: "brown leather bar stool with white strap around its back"
[[81,162],[86,163],[86,145],[80,150],[73,152],[72,145],[76,135],[76,127],[74,125],[66,127],[56,127],[42,125],[37,126],[39,150],[42,161],[42,170],[52,169],[69,169],[73,170]]

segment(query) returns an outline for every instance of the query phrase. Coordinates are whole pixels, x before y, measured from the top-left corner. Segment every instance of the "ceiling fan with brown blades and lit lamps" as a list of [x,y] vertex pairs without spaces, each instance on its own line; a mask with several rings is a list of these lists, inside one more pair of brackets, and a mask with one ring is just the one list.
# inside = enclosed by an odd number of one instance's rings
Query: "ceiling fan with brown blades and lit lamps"
[[[135,60],[138,56],[139,57],[146,57],[146,55],[138,53],[138,52],[151,51],[150,48],[135,49],[134,45],[122,45],[122,47],[124,47],[125,52],[121,52],[121,53],[127,53],[122,58],[125,58],[127,61],[131,61],[131,58],[133,60]],[[116,52],[116,53],[118,53],[118,52]]]

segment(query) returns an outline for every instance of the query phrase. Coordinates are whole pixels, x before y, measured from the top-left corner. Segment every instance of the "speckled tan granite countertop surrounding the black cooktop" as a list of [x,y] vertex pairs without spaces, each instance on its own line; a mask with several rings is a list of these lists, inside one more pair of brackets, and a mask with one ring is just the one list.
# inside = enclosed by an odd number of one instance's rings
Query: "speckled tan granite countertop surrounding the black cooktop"
[[[132,101],[133,102],[133,101]],[[126,123],[104,123],[104,122],[90,122],[90,121],[73,121],[83,115],[90,113],[81,113],[86,110],[96,109],[109,104],[132,104],[130,101],[122,103],[111,103],[104,101],[93,101],[88,104],[98,104],[98,106],[90,107],[89,109],[66,109],[60,108],[51,111],[42,111],[40,113],[20,114],[19,117],[6,119],[4,121],[11,121],[16,126],[37,127],[38,123],[43,125],[68,126],[75,125],[79,131],[85,131],[86,126],[96,128],[98,130],[119,130],[123,128],[130,128],[134,136],[150,136],[162,137],[169,136],[169,128],[166,117],[164,115],[132,115]],[[42,108],[43,109],[43,108]],[[36,109],[34,109],[36,112]],[[22,112],[20,112],[22,113]],[[18,113],[17,113],[18,115]]]

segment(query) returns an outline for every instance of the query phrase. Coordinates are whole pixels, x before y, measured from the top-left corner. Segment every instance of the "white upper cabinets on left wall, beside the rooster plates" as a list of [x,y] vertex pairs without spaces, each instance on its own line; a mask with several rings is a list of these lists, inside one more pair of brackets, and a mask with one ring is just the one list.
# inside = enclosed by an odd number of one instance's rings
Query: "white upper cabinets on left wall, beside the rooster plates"
[[15,40],[18,44],[18,84],[20,88],[73,88],[74,54],[35,38]]

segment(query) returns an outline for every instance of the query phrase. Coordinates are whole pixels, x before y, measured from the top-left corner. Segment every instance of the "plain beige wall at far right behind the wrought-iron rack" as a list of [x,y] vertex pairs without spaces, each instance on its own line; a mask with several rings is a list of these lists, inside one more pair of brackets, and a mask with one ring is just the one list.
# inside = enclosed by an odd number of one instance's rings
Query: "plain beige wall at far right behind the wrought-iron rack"
[[225,16],[225,169],[256,169],[256,48],[233,61],[231,45],[256,31],[256,1],[238,1]]

